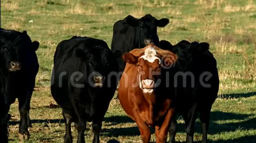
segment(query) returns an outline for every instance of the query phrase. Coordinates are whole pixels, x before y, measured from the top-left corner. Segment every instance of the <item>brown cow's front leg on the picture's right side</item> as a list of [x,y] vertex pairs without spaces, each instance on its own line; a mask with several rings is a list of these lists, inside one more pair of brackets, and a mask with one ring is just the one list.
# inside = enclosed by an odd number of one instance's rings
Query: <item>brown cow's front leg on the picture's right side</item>
[[162,123],[161,127],[156,126],[156,143],[166,143],[167,134],[170,122],[173,118],[174,108],[170,108],[166,114],[164,122]]

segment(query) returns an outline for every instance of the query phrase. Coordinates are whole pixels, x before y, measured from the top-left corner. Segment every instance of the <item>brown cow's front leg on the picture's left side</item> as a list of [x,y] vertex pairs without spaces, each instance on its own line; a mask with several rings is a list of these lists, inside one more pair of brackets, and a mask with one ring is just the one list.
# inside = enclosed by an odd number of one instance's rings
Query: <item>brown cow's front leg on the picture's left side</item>
[[138,125],[143,143],[149,143],[151,138],[151,132],[148,125],[145,122],[143,122],[143,120],[140,118],[139,114],[137,113],[134,114],[134,119],[136,124]]

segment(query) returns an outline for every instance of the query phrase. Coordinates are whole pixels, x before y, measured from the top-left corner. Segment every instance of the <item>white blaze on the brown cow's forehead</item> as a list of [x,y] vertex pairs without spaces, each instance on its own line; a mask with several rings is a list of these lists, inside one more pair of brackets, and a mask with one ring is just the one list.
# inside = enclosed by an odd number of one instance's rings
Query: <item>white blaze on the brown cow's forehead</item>
[[153,46],[149,46],[145,52],[144,55],[141,56],[140,58],[143,58],[144,60],[153,63],[154,60],[158,59],[159,60],[159,64],[161,64],[161,60],[159,57],[157,57],[157,53],[156,50],[154,49]]

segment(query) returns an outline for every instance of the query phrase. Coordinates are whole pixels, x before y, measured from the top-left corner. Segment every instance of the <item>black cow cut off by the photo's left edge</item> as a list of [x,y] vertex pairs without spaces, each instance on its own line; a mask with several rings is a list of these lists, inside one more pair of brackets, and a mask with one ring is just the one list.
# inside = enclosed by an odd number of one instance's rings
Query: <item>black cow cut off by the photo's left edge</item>
[[[0,29],[0,139],[8,142],[7,123],[10,105],[19,100],[19,139],[29,138],[30,99],[38,73],[37,41],[32,42],[26,31]],[[3,136],[3,137],[2,137]]]

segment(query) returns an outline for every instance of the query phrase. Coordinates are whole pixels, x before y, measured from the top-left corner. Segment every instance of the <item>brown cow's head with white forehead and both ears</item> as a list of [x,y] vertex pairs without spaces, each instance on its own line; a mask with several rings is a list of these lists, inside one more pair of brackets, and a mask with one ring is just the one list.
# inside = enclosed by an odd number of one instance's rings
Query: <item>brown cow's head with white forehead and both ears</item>
[[177,61],[177,55],[168,50],[162,50],[152,43],[143,49],[133,51],[135,52],[125,53],[123,59],[129,64],[136,65],[139,72],[139,87],[143,93],[151,94],[157,86],[156,83],[161,82],[163,68],[172,66]]

